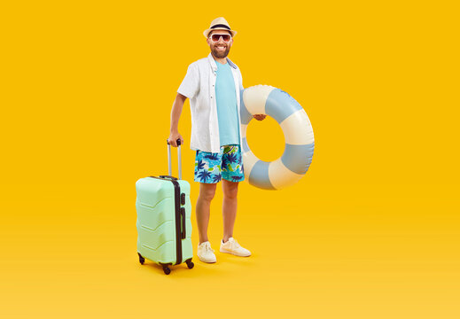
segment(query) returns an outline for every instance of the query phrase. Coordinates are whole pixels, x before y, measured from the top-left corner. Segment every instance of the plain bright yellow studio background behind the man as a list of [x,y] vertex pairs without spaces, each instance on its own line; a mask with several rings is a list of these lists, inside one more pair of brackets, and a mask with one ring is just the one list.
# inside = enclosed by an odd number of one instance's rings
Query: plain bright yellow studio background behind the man
[[[458,318],[454,3],[4,2],[0,317]],[[135,183],[168,171],[175,91],[219,16],[245,87],[299,101],[315,155],[284,191],[240,185],[235,237],[252,257],[165,276],[137,261]],[[190,126],[187,102],[191,182]],[[261,159],[283,152],[271,119],[248,140]]]

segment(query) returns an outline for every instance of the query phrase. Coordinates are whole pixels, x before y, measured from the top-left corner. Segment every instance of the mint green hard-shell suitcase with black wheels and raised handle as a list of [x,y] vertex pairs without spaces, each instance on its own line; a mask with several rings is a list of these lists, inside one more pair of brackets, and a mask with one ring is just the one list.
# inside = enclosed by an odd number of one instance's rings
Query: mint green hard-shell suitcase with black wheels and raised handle
[[171,265],[185,262],[188,268],[193,268],[190,183],[181,179],[180,140],[178,145],[178,179],[171,176],[171,145],[168,144],[169,175],[144,177],[136,182],[139,262],[154,261],[167,275]]

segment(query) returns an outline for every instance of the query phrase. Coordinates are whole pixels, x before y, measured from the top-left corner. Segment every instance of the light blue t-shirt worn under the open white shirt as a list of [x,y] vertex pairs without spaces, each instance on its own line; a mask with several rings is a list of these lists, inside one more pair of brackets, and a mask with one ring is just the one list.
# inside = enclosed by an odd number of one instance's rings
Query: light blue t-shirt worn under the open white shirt
[[239,144],[239,122],[237,91],[229,63],[217,65],[215,79],[215,103],[217,104],[217,118],[219,121],[219,135],[221,146]]

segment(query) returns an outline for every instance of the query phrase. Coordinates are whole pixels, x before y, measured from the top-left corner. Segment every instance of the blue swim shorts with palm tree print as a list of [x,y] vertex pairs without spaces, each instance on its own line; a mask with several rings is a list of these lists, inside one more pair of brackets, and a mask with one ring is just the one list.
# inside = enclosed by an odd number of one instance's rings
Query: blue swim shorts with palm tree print
[[222,178],[230,182],[245,180],[241,150],[237,144],[221,146],[218,153],[197,151],[194,181],[219,183]]

